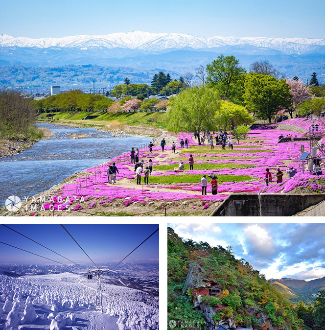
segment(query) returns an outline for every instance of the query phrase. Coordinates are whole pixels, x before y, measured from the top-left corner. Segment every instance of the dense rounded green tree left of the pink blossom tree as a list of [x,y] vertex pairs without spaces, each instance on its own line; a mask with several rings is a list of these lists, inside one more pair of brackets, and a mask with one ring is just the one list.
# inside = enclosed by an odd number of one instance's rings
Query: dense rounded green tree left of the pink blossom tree
[[290,87],[274,76],[250,73],[245,81],[244,100],[247,108],[261,119],[271,122],[279,110],[291,103]]

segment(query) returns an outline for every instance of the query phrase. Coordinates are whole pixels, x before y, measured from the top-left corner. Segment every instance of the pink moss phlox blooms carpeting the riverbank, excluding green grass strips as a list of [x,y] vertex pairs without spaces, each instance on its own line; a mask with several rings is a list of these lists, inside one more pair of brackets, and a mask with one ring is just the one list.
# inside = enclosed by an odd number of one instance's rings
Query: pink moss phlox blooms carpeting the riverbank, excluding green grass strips
[[[309,127],[312,123],[316,124],[317,121],[305,118],[295,118],[287,119],[281,122],[281,124],[293,125],[300,127],[306,132],[309,131]],[[324,132],[324,125],[318,122],[320,125],[319,132]],[[140,150],[140,159],[143,159],[144,165],[147,166],[148,160],[153,157],[158,157],[159,160],[154,160],[152,177],[165,176],[165,175],[175,175],[182,176],[184,181],[186,180],[187,174],[216,174],[216,175],[247,175],[252,177],[251,180],[246,182],[221,182],[218,183],[218,194],[211,195],[211,189],[208,184],[208,195],[201,195],[201,185],[200,180],[196,183],[173,183],[173,184],[150,184],[142,189],[142,186],[137,186],[134,183],[134,188],[125,188],[121,184],[120,180],[134,180],[135,171],[134,165],[131,164],[130,152],[128,151],[124,155],[120,155],[111,159],[108,163],[98,165],[89,168],[85,171],[84,177],[78,178],[75,182],[70,184],[65,184],[62,186],[59,196],[54,196],[53,201],[44,204],[46,210],[54,208],[58,210],[61,208],[68,208],[69,203],[66,203],[65,199],[67,197],[72,198],[72,196],[77,197],[77,203],[73,210],[81,210],[82,203],[80,198],[84,198],[85,201],[93,198],[99,200],[101,206],[107,205],[107,203],[112,203],[116,200],[123,201],[122,204],[125,206],[131,205],[132,203],[147,203],[148,201],[162,200],[162,201],[179,201],[196,199],[203,202],[217,202],[224,200],[230,193],[236,192],[289,192],[294,189],[310,189],[311,191],[322,191],[325,188],[325,183],[320,180],[324,180],[324,175],[320,177],[315,177],[310,175],[309,172],[298,172],[292,179],[288,179],[288,175],[285,173],[286,170],[293,166],[297,168],[301,161],[299,157],[301,155],[301,146],[303,145],[305,150],[309,150],[309,141],[289,141],[289,142],[279,142],[279,136],[291,134],[292,136],[302,137],[305,133],[296,133],[292,131],[285,131],[279,129],[255,129],[251,130],[248,134],[247,141],[240,141],[239,145],[236,144],[237,141],[234,140],[235,144],[232,150],[221,151],[220,145],[214,146],[214,154],[206,154],[206,160],[202,160],[203,154],[194,155],[194,170],[176,171],[171,170],[155,170],[156,165],[168,164],[176,165],[178,162],[168,160],[167,153],[162,152],[162,148],[158,145],[154,146],[153,153],[149,153],[146,149]],[[179,142],[181,139],[185,141],[187,138],[189,140],[189,146],[197,145],[197,140],[193,140],[193,134],[191,133],[181,133],[174,136],[175,142],[177,143],[177,150],[180,150]],[[254,139],[254,140],[253,140]],[[256,141],[257,139],[257,141]],[[251,141],[250,141],[251,140]],[[320,143],[325,143],[325,138],[323,138]],[[207,146],[207,144],[206,144]],[[244,148],[241,148],[244,146]],[[200,146],[197,146],[200,148]],[[171,147],[167,145],[165,150],[170,150]],[[252,152],[247,152],[252,151]],[[179,154],[179,157],[184,158],[184,163],[187,164],[187,159],[190,154],[190,149],[188,153]],[[197,157],[200,159],[196,159]],[[219,159],[214,157],[218,156]],[[230,159],[225,159],[225,157],[230,157]],[[165,159],[166,158],[166,159]],[[118,168],[117,182],[116,185],[108,184],[107,168],[109,164],[116,162]],[[195,169],[197,164],[234,164],[232,168],[219,168],[219,169],[209,169],[209,170],[198,170]],[[246,164],[251,165],[245,168],[236,168],[235,164]],[[187,165],[188,166],[188,165]],[[270,183],[269,187],[266,187],[265,169],[270,169],[274,181]],[[285,173],[283,177],[283,183],[276,184],[275,173],[277,168]],[[210,180],[208,178],[208,180]],[[150,181],[150,178],[149,178]],[[318,182],[320,181],[320,182]],[[155,191],[157,189],[162,189]],[[60,198],[59,198],[60,197]],[[96,202],[89,204],[89,208],[93,208]],[[206,204],[207,205],[207,204]]]

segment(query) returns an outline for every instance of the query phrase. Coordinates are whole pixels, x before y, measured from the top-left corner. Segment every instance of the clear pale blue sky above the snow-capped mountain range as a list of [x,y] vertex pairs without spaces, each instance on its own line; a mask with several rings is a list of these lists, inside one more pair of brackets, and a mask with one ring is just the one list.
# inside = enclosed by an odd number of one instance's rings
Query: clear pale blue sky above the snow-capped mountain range
[[0,33],[15,37],[141,30],[325,38],[324,0],[1,0],[0,9]]

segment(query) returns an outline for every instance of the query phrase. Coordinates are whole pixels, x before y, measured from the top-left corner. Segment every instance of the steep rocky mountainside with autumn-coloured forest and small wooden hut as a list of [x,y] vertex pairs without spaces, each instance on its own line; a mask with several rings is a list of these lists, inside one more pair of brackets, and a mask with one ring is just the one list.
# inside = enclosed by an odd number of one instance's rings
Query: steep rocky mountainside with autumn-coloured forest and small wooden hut
[[287,297],[232,249],[183,241],[168,228],[168,329],[298,330]]

